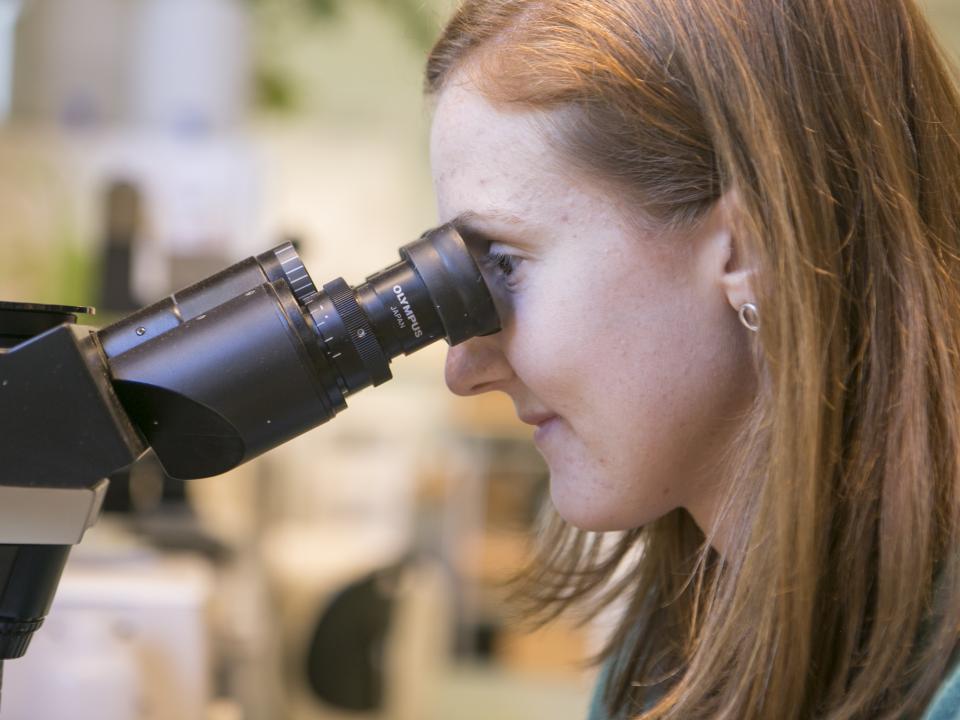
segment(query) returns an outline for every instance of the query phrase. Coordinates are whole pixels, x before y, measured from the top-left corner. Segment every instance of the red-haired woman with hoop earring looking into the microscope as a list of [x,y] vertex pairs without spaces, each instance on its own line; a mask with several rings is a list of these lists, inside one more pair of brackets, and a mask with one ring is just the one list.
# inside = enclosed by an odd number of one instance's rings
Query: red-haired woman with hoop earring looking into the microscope
[[427,85],[503,318],[447,382],[559,515],[525,596],[626,605],[593,717],[960,716],[960,96],[913,2],[468,0]]

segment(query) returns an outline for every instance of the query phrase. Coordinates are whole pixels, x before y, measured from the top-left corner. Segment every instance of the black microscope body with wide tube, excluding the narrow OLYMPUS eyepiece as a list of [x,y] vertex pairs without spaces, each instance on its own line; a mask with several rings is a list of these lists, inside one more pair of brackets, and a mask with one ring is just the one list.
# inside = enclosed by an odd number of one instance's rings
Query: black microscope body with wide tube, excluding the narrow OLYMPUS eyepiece
[[148,447],[174,478],[217,475],[345,407],[301,276],[281,246],[99,331],[85,308],[0,304],[0,660],[26,652],[109,475]]

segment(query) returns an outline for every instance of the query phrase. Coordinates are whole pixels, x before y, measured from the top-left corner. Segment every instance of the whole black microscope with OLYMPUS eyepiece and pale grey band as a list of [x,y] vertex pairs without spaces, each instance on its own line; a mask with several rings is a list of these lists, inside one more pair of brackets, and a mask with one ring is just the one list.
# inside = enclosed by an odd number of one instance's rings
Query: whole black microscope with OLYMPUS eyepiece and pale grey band
[[0,670],[49,612],[109,475],[226,472],[331,419],[390,362],[500,329],[452,225],[356,287],[318,288],[287,243],[102,330],[90,308],[0,302]]

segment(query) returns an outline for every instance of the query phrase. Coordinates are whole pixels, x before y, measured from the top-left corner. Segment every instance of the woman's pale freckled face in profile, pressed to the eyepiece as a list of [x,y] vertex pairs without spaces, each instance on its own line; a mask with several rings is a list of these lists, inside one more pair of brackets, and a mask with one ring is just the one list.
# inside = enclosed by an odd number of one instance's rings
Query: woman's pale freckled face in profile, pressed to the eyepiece
[[682,506],[706,530],[753,392],[722,204],[682,234],[638,229],[551,148],[544,117],[492,106],[462,73],[438,98],[440,220],[475,249],[503,325],[449,350],[447,384],[510,396],[572,524],[626,529]]

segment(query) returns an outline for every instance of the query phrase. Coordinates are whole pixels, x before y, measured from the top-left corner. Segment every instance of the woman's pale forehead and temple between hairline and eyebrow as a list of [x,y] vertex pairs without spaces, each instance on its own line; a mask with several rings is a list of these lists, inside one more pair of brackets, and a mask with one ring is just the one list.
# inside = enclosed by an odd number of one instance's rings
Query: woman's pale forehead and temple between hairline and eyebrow
[[644,240],[656,246],[652,255],[642,253],[648,265],[679,258],[683,243],[643,220],[625,193],[566,159],[558,136],[567,119],[562,111],[495,106],[462,75],[451,77],[430,134],[440,221],[466,213],[474,227],[502,231],[511,244],[534,250],[587,245],[626,257]]

